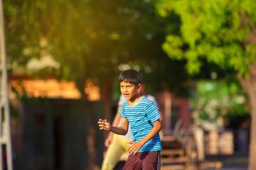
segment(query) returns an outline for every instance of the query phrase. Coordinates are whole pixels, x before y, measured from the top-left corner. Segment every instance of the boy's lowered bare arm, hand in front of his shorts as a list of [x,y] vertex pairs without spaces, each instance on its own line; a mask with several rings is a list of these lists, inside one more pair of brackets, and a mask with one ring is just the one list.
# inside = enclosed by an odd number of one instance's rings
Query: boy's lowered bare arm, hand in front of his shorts
[[154,127],[150,130],[150,132],[148,133],[148,135],[146,135],[142,140],[140,140],[139,142],[129,142],[129,144],[132,144],[128,149],[127,152],[129,154],[136,154],[139,149],[142,148],[142,146],[148,142],[149,140],[151,140],[160,130],[161,130],[161,123],[159,120],[156,120],[153,123]]

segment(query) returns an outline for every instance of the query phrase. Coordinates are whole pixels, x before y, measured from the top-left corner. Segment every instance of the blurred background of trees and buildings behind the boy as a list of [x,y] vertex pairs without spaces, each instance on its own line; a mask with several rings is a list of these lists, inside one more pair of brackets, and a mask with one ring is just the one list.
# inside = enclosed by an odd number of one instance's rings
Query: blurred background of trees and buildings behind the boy
[[162,169],[256,169],[255,1],[8,0],[1,10],[12,169],[100,169],[97,120],[114,119],[125,69],[159,102]]

